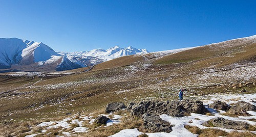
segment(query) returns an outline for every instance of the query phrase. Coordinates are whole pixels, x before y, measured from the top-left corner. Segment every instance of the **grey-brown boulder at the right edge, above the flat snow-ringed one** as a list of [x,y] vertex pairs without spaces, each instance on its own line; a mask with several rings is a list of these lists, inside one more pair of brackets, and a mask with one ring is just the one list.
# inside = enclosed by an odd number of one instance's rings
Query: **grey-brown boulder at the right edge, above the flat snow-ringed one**
[[248,116],[247,111],[256,111],[256,106],[245,101],[238,101],[228,110],[229,114]]

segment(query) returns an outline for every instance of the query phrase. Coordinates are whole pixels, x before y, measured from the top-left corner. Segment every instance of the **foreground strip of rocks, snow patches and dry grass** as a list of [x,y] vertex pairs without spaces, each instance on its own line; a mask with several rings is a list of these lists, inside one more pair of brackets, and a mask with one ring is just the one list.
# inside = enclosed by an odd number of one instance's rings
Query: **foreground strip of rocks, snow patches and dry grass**
[[[218,101],[196,98],[182,101],[142,101],[110,103],[102,114],[67,114],[57,121],[41,122],[30,126],[22,136],[97,136],[103,129],[116,128],[99,136],[198,136],[198,130],[220,130],[219,134],[256,134],[256,94],[215,95]],[[229,101],[227,101],[228,99]],[[244,101],[242,101],[244,100]],[[72,115],[72,116],[69,116]],[[139,119],[137,128],[125,128],[125,119]],[[135,120],[136,121],[136,120]],[[116,127],[115,125],[122,125]],[[112,129],[113,130],[113,129]],[[3,134],[3,133],[2,133]],[[111,135],[112,134],[112,135]],[[20,135],[19,135],[20,136]]]

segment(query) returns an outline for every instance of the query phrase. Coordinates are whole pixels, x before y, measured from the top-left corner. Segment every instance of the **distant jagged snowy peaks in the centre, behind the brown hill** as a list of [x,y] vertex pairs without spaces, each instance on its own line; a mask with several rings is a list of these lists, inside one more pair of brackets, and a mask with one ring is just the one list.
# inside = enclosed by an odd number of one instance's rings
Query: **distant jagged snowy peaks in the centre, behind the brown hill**
[[80,52],[58,52],[62,56],[67,57],[73,63],[80,66],[92,66],[105,61],[113,60],[123,56],[132,54],[148,53],[146,49],[137,49],[132,46],[121,48],[114,46],[109,49],[93,49],[91,51]]

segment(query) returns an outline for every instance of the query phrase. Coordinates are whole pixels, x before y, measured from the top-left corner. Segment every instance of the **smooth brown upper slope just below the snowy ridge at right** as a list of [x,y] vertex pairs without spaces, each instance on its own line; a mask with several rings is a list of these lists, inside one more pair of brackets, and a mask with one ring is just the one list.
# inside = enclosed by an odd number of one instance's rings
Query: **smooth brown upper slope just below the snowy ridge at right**
[[[208,67],[212,65],[224,66],[243,60],[255,61],[256,40],[244,41],[241,39],[205,45],[156,60],[154,63],[168,65],[182,62],[196,62],[195,66]],[[204,65],[205,64],[205,65]],[[207,65],[208,64],[208,65]]]

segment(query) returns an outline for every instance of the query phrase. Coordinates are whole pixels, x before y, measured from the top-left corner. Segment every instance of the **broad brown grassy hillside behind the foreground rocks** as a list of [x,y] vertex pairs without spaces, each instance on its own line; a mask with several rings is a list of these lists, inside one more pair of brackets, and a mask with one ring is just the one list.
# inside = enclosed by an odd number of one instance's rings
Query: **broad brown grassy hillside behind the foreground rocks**
[[[96,65],[88,72],[83,71],[89,68],[80,68],[65,71],[73,74],[56,77],[2,74],[0,122],[56,118],[69,112],[89,113],[113,101],[177,99],[177,89],[188,87],[184,80],[191,81],[191,94],[198,94],[204,89],[191,72],[203,73],[201,69],[212,65],[221,68],[232,63],[255,62],[255,47],[255,40],[235,40],[178,52],[158,60],[126,56]],[[223,83],[223,79],[212,79],[209,83],[230,84],[232,79],[228,80]],[[229,90],[237,92],[240,89]],[[205,91],[223,92],[207,87]]]

